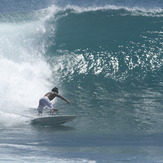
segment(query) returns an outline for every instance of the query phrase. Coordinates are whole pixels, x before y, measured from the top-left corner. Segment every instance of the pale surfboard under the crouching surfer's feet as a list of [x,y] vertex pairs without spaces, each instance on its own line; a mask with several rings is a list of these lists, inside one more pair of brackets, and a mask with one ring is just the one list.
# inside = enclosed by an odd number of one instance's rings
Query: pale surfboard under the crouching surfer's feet
[[75,115],[62,115],[62,116],[51,116],[51,117],[39,117],[31,121],[33,125],[43,126],[55,126],[74,120],[77,116]]

